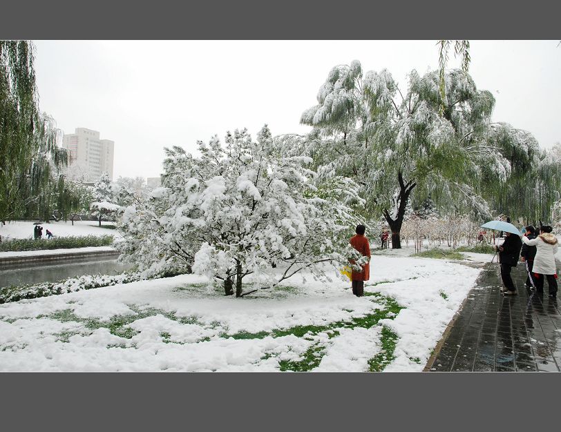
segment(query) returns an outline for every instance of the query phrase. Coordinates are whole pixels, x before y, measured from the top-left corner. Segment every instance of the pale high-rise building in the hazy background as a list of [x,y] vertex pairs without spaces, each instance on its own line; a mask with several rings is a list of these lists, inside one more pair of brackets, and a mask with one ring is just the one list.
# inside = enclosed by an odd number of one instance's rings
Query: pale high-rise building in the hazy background
[[62,146],[70,154],[66,170],[69,179],[95,181],[107,173],[113,180],[114,141],[99,139],[97,130],[76,128],[75,133],[64,135]]

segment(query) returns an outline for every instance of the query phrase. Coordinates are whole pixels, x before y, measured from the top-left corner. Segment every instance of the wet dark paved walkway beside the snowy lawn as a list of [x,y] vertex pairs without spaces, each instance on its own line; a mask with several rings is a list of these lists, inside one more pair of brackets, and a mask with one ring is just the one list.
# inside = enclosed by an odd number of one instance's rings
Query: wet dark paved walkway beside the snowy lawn
[[522,263],[511,274],[503,296],[499,266],[482,272],[425,371],[561,371],[561,300],[526,289]]

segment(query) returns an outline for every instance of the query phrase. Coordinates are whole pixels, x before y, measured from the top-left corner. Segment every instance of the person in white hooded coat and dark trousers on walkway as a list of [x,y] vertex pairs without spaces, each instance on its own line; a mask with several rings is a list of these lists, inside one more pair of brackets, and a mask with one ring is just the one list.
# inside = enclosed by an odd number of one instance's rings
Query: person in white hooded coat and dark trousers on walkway
[[528,246],[535,246],[534,265],[532,268],[535,282],[535,291],[544,292],[544,279],[547,279],[549,285],[549,295],[557,296],[557,269],[555,267],[555,254],[558,251],[558,240],[555,235],[551,234],[553,228],[544,225],[540,229],[540,235],[535,239],[529,240],[522,237],[522,242]]

